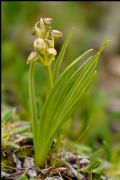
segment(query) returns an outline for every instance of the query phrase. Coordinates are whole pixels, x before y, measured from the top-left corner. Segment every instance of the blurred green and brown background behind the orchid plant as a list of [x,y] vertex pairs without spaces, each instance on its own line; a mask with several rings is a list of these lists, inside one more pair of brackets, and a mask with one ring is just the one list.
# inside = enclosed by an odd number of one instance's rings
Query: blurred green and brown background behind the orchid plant
[[[79,122],[85,127],[89,122],[90,128],[83,142],[96,149],[107,142],[107,153],[114,145],[120,154],[119,12],[120,2],[2,2],[2,105],[15,107],[22,120],[29,120],[26,59],[33,50],[31,31],[40,17],[53,18],[52,27],[64,33],[64,37],[56,42],[58,52],[69,29],[75,27],[61,70],[84,51],[97,49],[109,39],[96,81],[81,100],[77,115],[73,117],[74,123],[67,124],[66,132],[74,139],[77,136],[75,133],[81,131]],[[40,96],[44,99],[47,88],[47,74],[43,66],[36,67],[35,81],[39,102]],[[71,128],[73,134],[69,133]],[[111,155],[107,158],[110,159]]]

